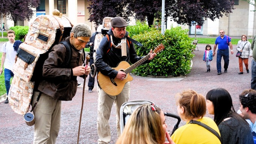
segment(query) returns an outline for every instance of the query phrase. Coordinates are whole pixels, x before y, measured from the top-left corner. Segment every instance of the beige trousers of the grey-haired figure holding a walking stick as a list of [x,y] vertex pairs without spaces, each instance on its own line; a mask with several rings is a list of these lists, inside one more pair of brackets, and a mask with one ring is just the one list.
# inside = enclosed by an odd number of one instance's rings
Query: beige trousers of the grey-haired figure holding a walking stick
[[[34,92],[32,106],[37,102],[38,94]],[[42,93],[33,113],[34,144],[55,144],[60,131],[61,101]]]

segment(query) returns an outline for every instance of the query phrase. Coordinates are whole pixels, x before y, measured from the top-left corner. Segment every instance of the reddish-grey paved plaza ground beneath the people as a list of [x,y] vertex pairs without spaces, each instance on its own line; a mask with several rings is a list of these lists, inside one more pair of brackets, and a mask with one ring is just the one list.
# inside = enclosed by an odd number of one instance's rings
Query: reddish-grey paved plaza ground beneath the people
[[[213,45],[211,45],[213,48]],[[205,44],[198,44],[194,51],[191,73],[186,76],[175,78],[152,78],[132,76],[131,96],[129,100],[146,99],[155,102],[163,111],[177,114],[175,95],[183,90],[193,89],[202,95],[214,88],[225,88],[231,94],[235,110],[239,109],[239,94],[244,89],[250,88],[251,73],[238,75],[238,58],[235,57],[236,44],[233,44],[234,54],[229,56],[228,73],[224,73],[222,60],[222,74],[217,75],[216,56],[211,62],[211,72],[206,72],[205,62],[202,56]],[[249,69],[252,58],[249,58]],[[83,83],[83,79],[78,79]],[[87,85],[88,79],[86,79]],[[96,82],[96,81],[95,81]],[[82,84],[83,85],[83,84]],[[82,101],[82,87],[77,89],[77,94],[72,101],[62,101],[61,128],[57,144],[76,144],[79,126],[79,117]],[[87,93],[85,88],[85,99],[83,105],[83,116],[80,129],[80,144],[97,144],[97,86],[92,93]],[[40,101],[39,101],[40,102]],[[209,116],[207,114],[207,116]],[[12,111],[9,104],[0,103],[0,144],[32,144],[34,126],[27,126],[22,115]],[[210,116],[213,118],[213,116]],[[115,108],[112,108],[110,116],[111,143],[114,144],[117,138]],[[176,119],[167,117],[168,131],[171,131]],[[180,123],[184,125],[184,122]]]

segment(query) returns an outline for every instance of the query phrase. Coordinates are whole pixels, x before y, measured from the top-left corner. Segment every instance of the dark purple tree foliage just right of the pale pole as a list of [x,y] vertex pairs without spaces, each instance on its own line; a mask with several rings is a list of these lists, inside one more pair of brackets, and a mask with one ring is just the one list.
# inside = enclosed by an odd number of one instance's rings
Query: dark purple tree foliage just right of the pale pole
[[[234,9],[232,0],[177,0],[176,3],[170,0],[171,4],[165,7],[166,15],[171,16],[178,24],[191,25],[195,21],[198,25],[204,24],[204,19],[228,16]],[[168,3],[170,3],[168,2]]]

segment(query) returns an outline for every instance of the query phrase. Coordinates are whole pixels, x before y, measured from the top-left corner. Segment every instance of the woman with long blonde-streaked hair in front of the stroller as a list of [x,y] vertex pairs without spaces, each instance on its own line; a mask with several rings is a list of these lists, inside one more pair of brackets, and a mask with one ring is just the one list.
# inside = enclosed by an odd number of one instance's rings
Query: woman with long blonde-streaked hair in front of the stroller
[[163,111],[155,104],[144,104],[131,114],[116,144],[174,144],[166,128]]

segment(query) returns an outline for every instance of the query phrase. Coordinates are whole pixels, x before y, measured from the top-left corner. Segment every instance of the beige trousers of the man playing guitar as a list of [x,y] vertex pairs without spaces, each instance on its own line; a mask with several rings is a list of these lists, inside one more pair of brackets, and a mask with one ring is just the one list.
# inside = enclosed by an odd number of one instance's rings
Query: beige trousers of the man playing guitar
[[118,137],[121,135],[120,131],[120,107],[124,102],[127,102],[130,95],[130,82],[127,82],[124,89],[119,95],[107,95],[102,89],[98,90],[98,118],[97,118],[97,131],[98,131],[98,144],[110,143],[111,134],[109,126],[109,118],[113,103],[116,108],[116,129]]

